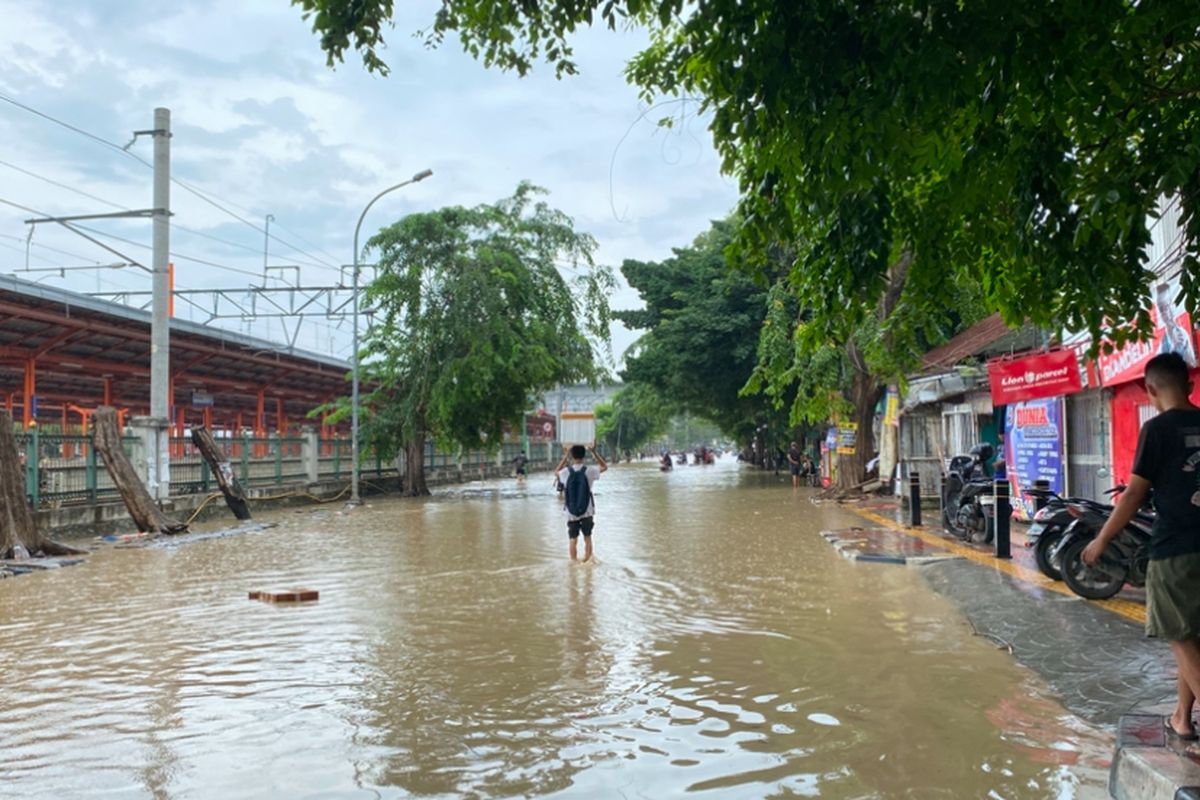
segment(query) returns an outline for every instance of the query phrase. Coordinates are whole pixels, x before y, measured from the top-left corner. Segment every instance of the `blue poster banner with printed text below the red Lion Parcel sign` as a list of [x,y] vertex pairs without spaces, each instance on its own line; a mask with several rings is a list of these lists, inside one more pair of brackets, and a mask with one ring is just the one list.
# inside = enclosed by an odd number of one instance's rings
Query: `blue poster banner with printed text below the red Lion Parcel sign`
[[1008,407],[1004,419],[1004,461],[1013,485],[1013,509],[1022,519],[1033,516],[1033,501],[1025,492],[1038,479],[1050,481],[1060,494],[1063,473],[1063,403],[1061,397],[1022,401]]

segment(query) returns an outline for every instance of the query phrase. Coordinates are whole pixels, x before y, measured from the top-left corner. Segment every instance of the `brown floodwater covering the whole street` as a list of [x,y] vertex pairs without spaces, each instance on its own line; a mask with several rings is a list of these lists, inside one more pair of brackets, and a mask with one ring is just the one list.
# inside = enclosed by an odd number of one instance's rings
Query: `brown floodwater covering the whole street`
[[1105,796],[1105,739],[810,497],[620,465],[588,565],[534,475],[0,581],[0,796]]

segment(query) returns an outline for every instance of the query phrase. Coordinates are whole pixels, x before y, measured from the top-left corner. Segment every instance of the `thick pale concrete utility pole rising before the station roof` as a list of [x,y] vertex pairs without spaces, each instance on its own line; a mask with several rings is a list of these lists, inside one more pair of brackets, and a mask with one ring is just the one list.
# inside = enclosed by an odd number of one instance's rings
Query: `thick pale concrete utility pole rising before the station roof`
[[[168,306],[170,285],[167,261],[170,258],[170,110],[154,109],[154,305],[150,321],[150,416],[152,453],[148,452],[150,493],[163,500],[170,494],[170,330]],[[148,443],[149,444],[149,443]]]

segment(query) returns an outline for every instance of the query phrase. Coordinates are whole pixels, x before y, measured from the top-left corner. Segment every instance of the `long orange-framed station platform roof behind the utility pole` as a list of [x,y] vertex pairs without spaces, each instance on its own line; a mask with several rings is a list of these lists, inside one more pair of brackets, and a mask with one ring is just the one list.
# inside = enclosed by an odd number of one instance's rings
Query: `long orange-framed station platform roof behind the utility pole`
[[[38,415],[71,403],[95,408],[110,384],[112,401],[133,414],[150,405],[150,313],[88,295],[0,276],[0,401],[23,405],[26,365],[34,363]],[[199,323],[170,320],[175,409],[199,421],[192,392],[212,397],[214,422],[242,414],[253,427],[258,397],[275,429],[283,415],[301,421],[350,390],[350,365]],[[56,415],[55,415],[56,416]],[[266,426],[266,421],[263,421]]]

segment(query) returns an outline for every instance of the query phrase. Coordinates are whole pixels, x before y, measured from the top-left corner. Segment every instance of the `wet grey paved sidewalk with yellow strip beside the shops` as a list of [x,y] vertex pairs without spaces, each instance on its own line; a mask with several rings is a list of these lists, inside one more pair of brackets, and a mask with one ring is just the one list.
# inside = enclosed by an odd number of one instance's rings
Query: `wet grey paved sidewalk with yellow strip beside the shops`
[[1013,558],[1002,560],[990,545],[944,534],[935,511],[914,529],[889,498],[846,507],[865,524],[823,534],[842,555],[871,569],[918,567],[977,634],[1008,646],[1073,714],[1114,730],[1114,798],[1200,800],[1200,747],[1163,735],[1162,714],[1175,703],[1175,662],[1165,642],[1144,634],[1144,591],[1127,587],[1106,601],[1075,596],[1037,570],[1024,525],[1014,525]]

